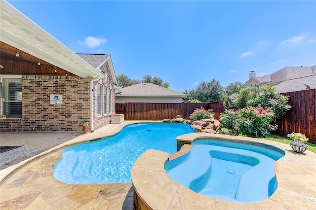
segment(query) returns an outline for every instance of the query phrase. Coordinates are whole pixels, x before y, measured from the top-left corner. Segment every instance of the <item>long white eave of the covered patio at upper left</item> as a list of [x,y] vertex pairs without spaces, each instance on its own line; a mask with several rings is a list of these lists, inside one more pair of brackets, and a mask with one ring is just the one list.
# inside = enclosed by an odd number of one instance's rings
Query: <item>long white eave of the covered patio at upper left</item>
[[0,40],[80,77],[104,77],[4,0],[0,1]]

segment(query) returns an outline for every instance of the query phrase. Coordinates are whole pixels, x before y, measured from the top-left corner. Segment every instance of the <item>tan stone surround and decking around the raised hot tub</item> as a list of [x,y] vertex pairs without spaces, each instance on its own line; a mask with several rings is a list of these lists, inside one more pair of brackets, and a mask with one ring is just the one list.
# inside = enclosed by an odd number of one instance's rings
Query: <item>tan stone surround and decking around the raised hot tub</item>
[[[208,133],[182,135],[176,140],[192,142],[197,138],[254,141],[276,146],[285,151],[276,161],[276,192],[258,203],[232,203],[193,192],[171,179],[164,170],[168,153],[150,149],[143,153],[131,169],[134,202],[139,209],[314,209],[316,202],[316,154],[295,153],[289,144],[248,137]],[[134,204],[135,205],[135,204]]]

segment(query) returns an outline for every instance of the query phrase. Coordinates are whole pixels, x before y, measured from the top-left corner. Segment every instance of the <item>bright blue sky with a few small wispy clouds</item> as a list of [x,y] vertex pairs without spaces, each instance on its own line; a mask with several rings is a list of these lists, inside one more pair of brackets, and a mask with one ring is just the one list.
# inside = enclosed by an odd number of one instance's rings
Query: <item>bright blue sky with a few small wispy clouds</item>
[[179,92],[316,65],[316,1],[8,0],[75,53],[111,54],[116,75]]

